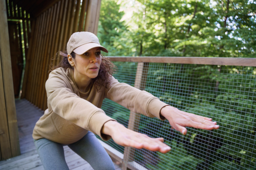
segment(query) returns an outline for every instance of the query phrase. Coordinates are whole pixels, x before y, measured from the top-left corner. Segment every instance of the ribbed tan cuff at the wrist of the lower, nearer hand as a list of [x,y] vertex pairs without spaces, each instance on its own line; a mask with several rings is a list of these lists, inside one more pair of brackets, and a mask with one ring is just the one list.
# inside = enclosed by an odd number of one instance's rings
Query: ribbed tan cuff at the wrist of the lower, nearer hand
[[101,137],[104,141],[108,141],[109,139],[111,139],[111,136],[101,133],[101,130],[103,125],[110,120],[116,121],[115,119],[107,116],[104,112],[97,111],[90,118],[89,130],[99,135],[99,137]]

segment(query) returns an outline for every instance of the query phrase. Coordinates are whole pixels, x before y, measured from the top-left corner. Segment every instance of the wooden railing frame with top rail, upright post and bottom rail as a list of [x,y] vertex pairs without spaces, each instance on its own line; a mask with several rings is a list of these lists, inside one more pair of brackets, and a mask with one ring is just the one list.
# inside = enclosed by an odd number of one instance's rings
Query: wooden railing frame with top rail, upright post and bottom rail
[[[200,65],[232,65],[256,66],[256,58],[211,58],[211,57],[109,57],[112,62],[138,62],[134,87],[144,90],[147,79],[148,63],[177,63]],[[136,121],[135,121],[136,120]],[[137,131],[139,128],[140,114],[131,112],[128,128]],[[133,160],[134,148],[125,147],[124,153],[102,142],[107,152],[122,163],[122,170],[145,169]]]

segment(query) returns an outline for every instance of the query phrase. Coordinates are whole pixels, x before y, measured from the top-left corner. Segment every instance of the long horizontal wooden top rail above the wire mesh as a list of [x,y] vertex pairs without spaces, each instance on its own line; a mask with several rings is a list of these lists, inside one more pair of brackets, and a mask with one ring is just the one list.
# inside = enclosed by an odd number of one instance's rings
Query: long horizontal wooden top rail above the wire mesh
[[158,62],[177,64],[237,65],[256,66],[256,58],[225,57],[108,57],[111,61],[121,62]]

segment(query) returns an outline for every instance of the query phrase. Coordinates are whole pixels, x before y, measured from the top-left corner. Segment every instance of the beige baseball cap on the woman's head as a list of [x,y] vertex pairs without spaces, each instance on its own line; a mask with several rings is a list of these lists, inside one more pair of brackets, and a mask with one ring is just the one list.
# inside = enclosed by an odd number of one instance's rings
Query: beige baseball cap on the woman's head
[[101,51],[108,53],[108,50],[100,45],[98,37],[93,33],[75,32],[67,42],[67,54],[71,54],[74,51],[76,54],[81,55],[95,47],[100,47]]

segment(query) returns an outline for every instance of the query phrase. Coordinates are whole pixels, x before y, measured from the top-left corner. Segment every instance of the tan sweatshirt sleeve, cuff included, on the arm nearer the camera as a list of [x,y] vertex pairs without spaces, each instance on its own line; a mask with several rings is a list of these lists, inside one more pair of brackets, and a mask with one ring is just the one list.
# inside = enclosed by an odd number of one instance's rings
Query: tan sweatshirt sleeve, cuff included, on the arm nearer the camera
[[101,129],[106,122],[114,119],[107,116],[102,109],[73,93],[65,75],[51,73],[46,82],[46,91],[49,109],[104,140],[110,139],[110,136],[102,136]]

